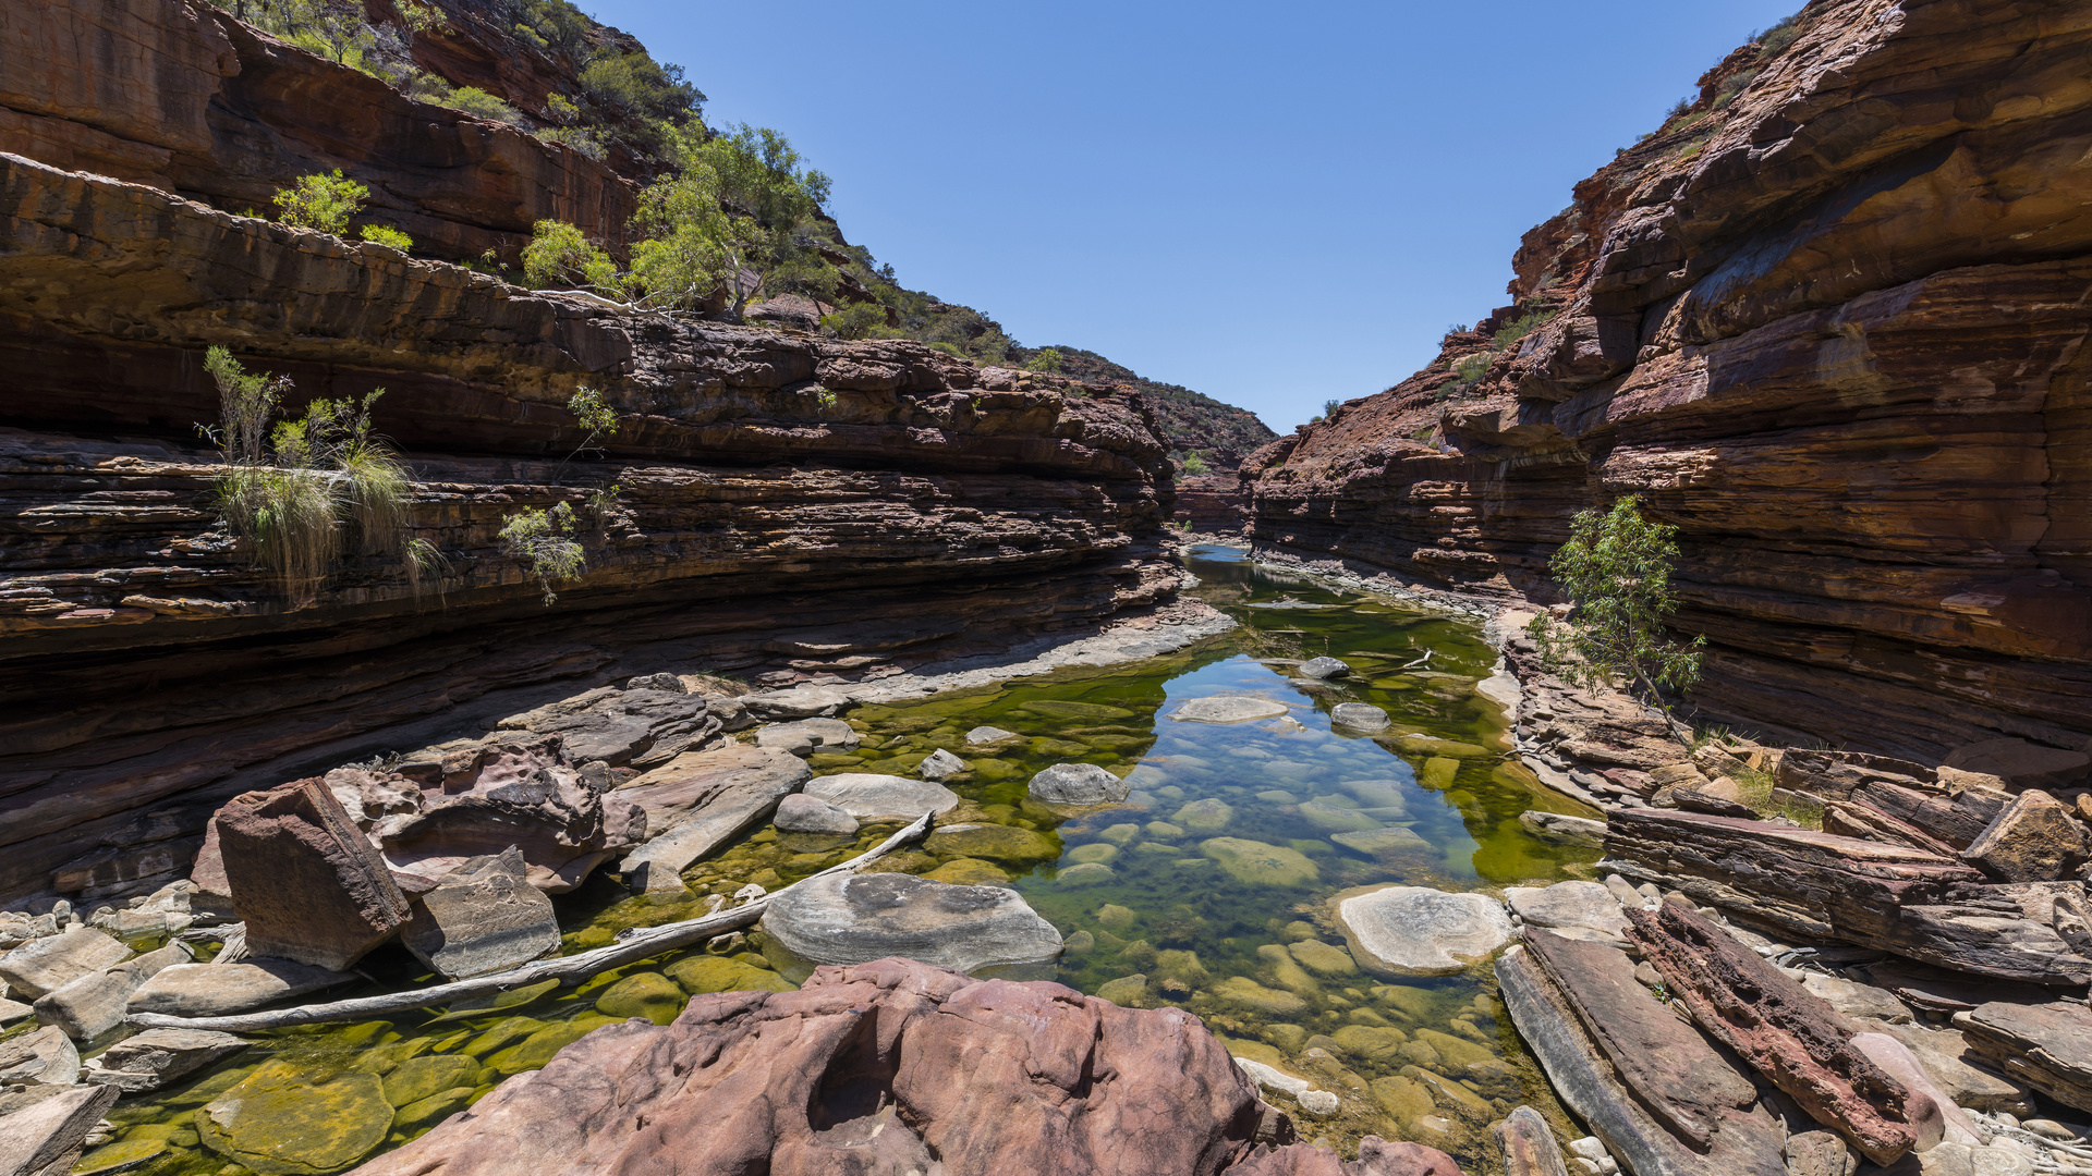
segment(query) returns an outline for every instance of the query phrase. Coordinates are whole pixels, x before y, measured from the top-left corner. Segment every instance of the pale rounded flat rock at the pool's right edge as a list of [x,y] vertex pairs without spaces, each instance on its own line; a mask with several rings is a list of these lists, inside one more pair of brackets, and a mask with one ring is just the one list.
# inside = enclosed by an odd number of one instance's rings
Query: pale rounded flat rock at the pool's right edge
[[1485,894],[1391,885],[1337,898],[1351,956],[1387,975],[1454,975],[1490,958],[1517,933]]

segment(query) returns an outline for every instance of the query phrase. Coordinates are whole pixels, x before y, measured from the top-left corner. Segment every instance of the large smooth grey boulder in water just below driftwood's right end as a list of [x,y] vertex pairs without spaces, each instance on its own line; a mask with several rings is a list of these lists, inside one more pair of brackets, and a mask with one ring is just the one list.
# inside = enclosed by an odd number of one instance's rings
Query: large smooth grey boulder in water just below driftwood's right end
[[1061,954],[1061,933],[1013,889],[893,873],[801,883],[770,902],[764,931],[816,963],[904,956],[977,971]]

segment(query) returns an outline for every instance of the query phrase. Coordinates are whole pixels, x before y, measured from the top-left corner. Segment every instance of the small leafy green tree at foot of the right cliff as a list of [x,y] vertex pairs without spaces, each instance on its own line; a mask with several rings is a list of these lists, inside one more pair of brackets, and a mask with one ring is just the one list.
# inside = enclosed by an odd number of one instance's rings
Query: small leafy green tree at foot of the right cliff
[[1678,527],[1642,517],[1630,494],[1611,511],[1577,511],[1569,542],[1548,561],[1548,571],[1573,603],[1571,621],[1542,613],[1527,626],[1540,642],[1542,663],[1565,682],[1594,688],[1632,678],[1663,707],[1676,737],[1663,688],[1688,691],[1701,676],[1705,636],[1680,647],[1665,632],[1678,611],[1672,567],[1678,563]]

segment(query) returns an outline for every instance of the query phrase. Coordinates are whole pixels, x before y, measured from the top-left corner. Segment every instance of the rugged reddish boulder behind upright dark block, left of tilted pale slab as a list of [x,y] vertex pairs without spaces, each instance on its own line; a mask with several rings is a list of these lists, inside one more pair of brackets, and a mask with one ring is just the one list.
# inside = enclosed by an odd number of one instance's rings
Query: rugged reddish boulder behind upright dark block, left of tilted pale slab
[[423,804],[416,816],[379,824],[385,860],[418,894],[515,845],[538,889],[582,885],[605,858],[646,837],[649,814],[634,795],[598,793],[573,764],[559,734],[506,734],[400,764]]

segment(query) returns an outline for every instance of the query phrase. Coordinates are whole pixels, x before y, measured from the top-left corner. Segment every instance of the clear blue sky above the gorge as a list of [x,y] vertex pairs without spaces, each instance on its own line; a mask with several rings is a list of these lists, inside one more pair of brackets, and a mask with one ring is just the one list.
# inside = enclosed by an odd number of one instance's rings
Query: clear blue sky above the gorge
[[902,285],[1287,431],[1506,301],[1519,236],[1801,0],[579,0],[784,132]]

